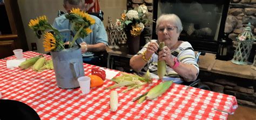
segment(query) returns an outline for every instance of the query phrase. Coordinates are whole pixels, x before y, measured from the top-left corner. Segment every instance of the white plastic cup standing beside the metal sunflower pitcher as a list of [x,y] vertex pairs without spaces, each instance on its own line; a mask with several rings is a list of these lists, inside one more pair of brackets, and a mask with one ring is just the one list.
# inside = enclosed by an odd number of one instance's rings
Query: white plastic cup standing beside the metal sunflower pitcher
[[77,80],[82,90],[82,94],[85,95],[90,93],[91,78],[88,76],[83,76],[79,77]]

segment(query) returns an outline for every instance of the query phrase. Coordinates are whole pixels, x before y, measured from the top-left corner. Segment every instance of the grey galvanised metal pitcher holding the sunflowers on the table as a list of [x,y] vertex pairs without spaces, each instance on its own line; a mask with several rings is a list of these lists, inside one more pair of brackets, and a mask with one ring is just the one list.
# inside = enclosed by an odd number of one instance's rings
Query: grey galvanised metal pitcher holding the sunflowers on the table
[[64,89],[79,87],[77,78],[84,76],[80,47],[51,51],[57,86]]

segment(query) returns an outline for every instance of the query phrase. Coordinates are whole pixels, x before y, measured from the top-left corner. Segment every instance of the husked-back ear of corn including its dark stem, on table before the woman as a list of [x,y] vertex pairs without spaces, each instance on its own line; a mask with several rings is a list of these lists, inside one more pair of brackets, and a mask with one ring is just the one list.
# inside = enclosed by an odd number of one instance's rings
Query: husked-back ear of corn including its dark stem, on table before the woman
[[158,97],[159,95],[165,93],[167,91],[167,89],[169,89],[169,87],[172,85],[172,83],[173,83],[173,81],[165,81],[163,83],[160,83],[159,85],[151,88],[149,92],[147,92],[143,95],[140,95],[133,101],[139,100],[138,103],[142,103],[145,100],[153,100],[156,97]]

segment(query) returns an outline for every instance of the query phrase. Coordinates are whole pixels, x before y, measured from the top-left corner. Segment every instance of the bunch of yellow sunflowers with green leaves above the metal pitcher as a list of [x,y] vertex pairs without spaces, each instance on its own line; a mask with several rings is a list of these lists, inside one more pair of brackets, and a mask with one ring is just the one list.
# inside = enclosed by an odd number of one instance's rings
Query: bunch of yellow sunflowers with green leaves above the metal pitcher
[[[69,48],[72,48],[78,38],[84,38],[92,32],[90,26],[95,24],[95,19],[80,9],[72,9],[70,13],[65,14],[65,17],[71,22],[70,30],[76,33],[73,39],[69,41]],[[49,24],[46,16],[31,19],[29,27],[33,29],[38,39],[44,35],[43,47],[45,51],[61,51],[65,49],[63,36],[58,29]]]

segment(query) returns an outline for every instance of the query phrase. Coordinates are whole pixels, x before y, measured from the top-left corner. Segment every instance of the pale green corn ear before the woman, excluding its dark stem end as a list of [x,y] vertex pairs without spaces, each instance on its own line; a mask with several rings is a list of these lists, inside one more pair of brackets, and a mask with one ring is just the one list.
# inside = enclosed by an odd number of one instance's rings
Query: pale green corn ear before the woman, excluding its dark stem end
[[163,94],[167,89],[172,85],[173,81],[165,81],[160,83],[157,86],[154,86],[150,89],[149,93],[146,95],[146,99],[152,100],[158,97],[159,95]]

